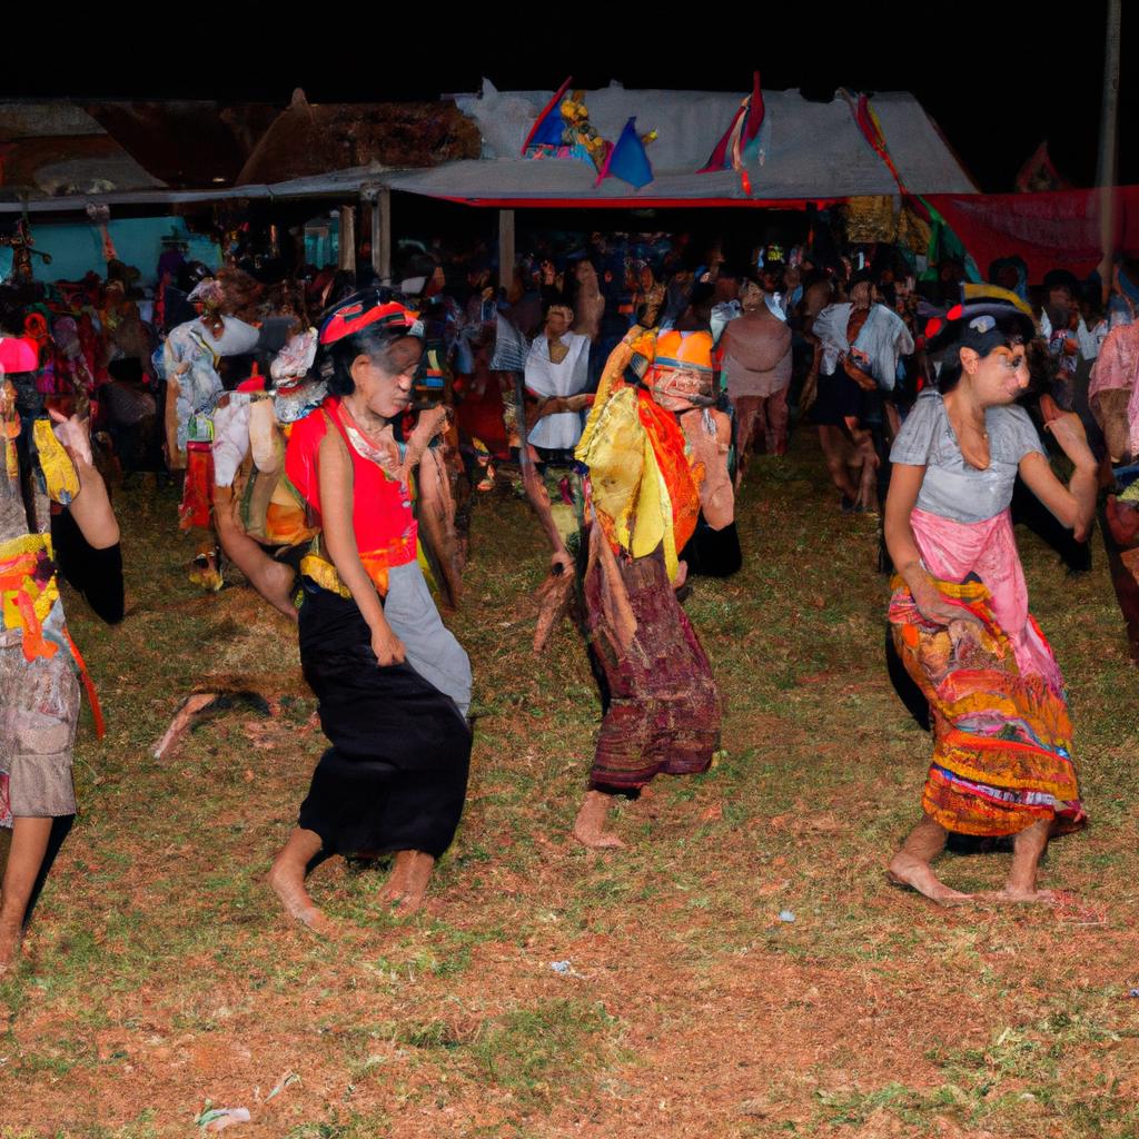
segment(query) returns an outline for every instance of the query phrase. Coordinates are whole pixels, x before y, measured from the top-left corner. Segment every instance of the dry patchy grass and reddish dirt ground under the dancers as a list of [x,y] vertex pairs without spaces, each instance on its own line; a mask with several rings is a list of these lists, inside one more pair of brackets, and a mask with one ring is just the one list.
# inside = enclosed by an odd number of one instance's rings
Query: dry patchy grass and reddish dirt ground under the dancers
[[[123,494],[131,615],[69,606],[109,730],[84,728],[83,814],[0,988],[0,1137],[189,1136],[210,1105],[247,1107],[251,1139],[1139,1132],[1139,678],[1101,554],[1065,579],[1018,533],[1092,817],[1046,884],[1080,902],[936,910],[883,879],[929,741],[883,666],[875,523],[821,472],[809,437],[753,465],[745,568],[688,603],[726,754],[624,808],[604,854],[566,841],[599,714],[581,644],[531,656],[536,530],[482,501],[452,622],[477,678],[466,818],[405,924],[382,870],[321,867],[336,943],[264,886],[322,747],[294,637],[244,588],[196,596],[171,494]],[[277,714],[155,762],[202,672],[268,674]],[[995,886],[1007,858],[944,876]]]

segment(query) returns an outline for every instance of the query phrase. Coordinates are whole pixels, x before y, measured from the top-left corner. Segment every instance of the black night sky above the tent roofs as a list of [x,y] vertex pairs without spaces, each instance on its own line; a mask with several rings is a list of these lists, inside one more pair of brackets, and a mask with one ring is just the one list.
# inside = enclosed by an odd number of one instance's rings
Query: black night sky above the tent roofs
[[[256,7],[264,16],[249,11]],[[475,7],[475,6],[472,6]],[[286,104],[295,87],[310,101],[434,99],[477,90],[482,76],[500,90],[550,90],[567,75],[585,89],[618,80],[628,88],[739,91],[756,67],[769,89],[800,88],[826,99],[837,87],[909,90],[925,105],[981,189],[1007,191],[1022,163],[1048,139],[1052,161],[1075,186],[1093,185],[1101,98],[1106,0],[1081,0],[1058,16],[1041,3],[700,5],[711,17],[678,30],[644,19],[618,26],[587,5],[534,6],[523,17],[477,6],[483,18],[446,15],[428,5],[403,9],[395,26],[386,6],[346,6],[287,25],[268,5],[224,5],[206,33],[199,6],[179,36],[159,33],[148,50],[124,52],[107,25],[76,23],[74,35],[28,41],[27,63],[9,54],[0,74],[5,98],[199,98]],[[1124,5],[1124,8],[1128,6]],[[784,9],[787,14],[773,16]],[[794,9],[788,11],[789,9]],[[123,8],[116,8],[122,13]],[[319,15],[318,15],[319,11]],[[612,11],[612,7],[611,7]],[[237,15],[235,15],[237,13]],[[570,22],[551,21],[567,14]],[[170,14],[167,11],[167,14]],[[386,14],[386,15],[385,15]],[[1118,181],[1139,182],[1136,137],[1139,82],[1128,80],[1129,47],[1139,46],[1139,10],[1123,14]],[[1051,18],[1050,18],[1051,17]],[[141,34],[154,7],[121,26]],[[431,27],[427,34],[417,24]],[[492,34],[492,24],[509,42]],[[186,57],[191,26],[203,40]],[[374,50],[362,44],[375,42]],[[631,47],[630,47],[631,44]],[[346,46],[351,46],[351,50]],[[126,62],[129,60],[129,63]]]

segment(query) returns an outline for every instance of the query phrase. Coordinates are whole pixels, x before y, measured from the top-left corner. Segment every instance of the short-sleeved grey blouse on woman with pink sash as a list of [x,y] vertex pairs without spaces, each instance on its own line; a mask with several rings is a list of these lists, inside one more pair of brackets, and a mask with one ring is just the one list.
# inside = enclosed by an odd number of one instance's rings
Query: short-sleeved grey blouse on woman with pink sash
[[985,411],[989,466],[970,467],[961,456],[941,393],[927,388],[906,417],[890,451],[891,462],[925,467],[917,507],[954,522],[984,522],[1007,509],[1021,460],[1043,454],[1040,436],[1024,408],[1014,404]]

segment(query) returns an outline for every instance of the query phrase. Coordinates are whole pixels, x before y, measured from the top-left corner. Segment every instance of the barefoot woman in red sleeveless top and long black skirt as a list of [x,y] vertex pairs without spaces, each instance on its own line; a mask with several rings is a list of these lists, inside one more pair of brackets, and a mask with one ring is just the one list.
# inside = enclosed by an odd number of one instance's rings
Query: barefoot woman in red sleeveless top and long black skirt
[[412,320],[375,293],[333,311],[320,335],[330,394],[294,426],[285,458],[321,530],[301,563],[301,663],[333,746],[269,883],[319,932],[331,923],[305,888],[318,855],[394,853],[384,896],[413,911],[466,795],[470,666],[419,568],[408,486],[445,420],[421,417],[405,448],[392,429],[423,351]]

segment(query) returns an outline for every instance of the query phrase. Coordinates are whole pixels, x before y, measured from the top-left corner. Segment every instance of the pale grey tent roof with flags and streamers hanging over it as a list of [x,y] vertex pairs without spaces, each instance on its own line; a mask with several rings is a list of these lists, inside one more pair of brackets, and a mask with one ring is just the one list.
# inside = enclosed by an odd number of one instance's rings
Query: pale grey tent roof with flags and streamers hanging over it
[[[641,190],[616,178],[593,187],[596,171],[574,158],[522,157],[522,147],[552,91],[499,92],[484,83],[481,95],[459,96],[459,108],[483,134],[481,161],[405,171],[385,181],[395,190],[485,204],[605,205],[629,199],[747,203],[735,171],[698,174],[728,129],[741,96],[716,91],[626,91],[609,87],[585,95],[590,122],[611,141],[636,116],[637,130],[655,129],[648,147],[654,180]],[[752,200],[803,200],[896,194],[885,163],[862,137],[842,97],[812,103],[798,91],[764,91],[762,165],[748,166]],[[871,100],[886,144],[908,189],[916,194],[976,192],[913,96],[896,91]]]

